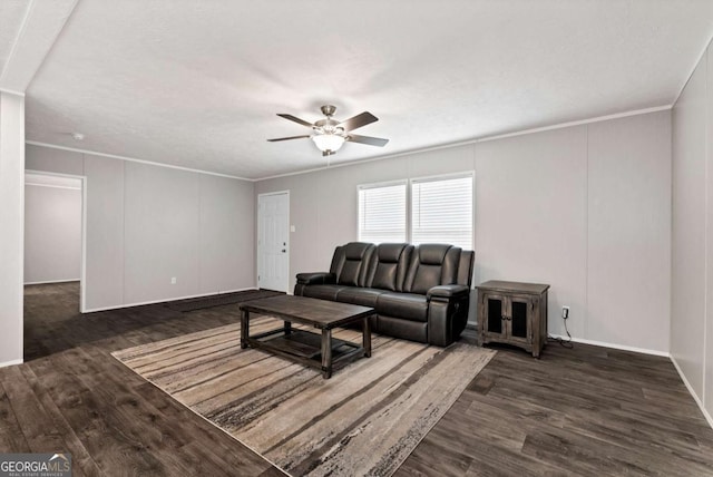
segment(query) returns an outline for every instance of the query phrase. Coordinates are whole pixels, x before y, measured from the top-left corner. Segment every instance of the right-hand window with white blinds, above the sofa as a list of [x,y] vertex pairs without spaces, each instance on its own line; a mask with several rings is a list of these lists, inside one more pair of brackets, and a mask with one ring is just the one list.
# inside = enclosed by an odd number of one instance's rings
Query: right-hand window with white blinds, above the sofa
[[411,184],[411,243],[450,243],[472,249],[472,176]]

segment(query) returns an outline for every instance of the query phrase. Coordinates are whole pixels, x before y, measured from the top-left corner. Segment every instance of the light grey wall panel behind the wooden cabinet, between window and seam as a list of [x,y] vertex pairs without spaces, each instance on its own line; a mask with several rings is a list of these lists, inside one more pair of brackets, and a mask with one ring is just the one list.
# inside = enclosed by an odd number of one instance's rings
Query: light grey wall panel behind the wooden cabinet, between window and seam
[[548,283],[550,333],[559,310],[578,338],[587,319],[587,127],[476,146],[476,283]]

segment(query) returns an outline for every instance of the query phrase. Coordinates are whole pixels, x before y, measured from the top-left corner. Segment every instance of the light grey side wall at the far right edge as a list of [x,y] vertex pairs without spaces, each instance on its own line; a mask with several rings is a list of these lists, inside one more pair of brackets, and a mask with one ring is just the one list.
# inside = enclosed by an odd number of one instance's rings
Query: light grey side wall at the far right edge
[[673,108],[671,354],[713,425],[713,51]]

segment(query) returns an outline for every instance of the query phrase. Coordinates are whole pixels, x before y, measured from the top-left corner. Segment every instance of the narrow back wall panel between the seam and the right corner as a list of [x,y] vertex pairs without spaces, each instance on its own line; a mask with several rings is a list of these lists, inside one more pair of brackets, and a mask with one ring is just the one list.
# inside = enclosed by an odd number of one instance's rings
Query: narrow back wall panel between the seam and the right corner
[[671,114],[588,130],[586,335],[668,351]]

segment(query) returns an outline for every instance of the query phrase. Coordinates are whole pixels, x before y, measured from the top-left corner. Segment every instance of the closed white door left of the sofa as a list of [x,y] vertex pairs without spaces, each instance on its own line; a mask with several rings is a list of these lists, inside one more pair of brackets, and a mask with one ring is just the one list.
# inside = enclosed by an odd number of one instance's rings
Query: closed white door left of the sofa
[[290,193],[257,196],[257,286],[286,292],[290,283]]

